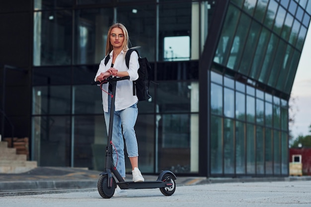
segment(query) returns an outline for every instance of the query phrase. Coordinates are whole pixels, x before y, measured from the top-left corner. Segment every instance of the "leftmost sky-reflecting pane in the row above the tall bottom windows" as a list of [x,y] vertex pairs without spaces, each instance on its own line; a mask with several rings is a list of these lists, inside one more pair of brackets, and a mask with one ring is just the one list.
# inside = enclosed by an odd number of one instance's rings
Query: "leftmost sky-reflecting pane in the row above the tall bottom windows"
[[223,87],[211,83],[211,113],[223,114]]

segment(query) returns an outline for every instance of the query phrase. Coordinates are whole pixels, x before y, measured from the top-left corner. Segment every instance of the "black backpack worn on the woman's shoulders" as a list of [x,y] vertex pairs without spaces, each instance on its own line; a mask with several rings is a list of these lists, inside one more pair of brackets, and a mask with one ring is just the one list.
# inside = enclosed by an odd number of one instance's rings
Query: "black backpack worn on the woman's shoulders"
[[[151,66],[147,60],[147,58],[141,58],[136,49],[129,49],[125,55],[125,64],[127,68],[129,68],[130,56],[133,51],[136,51],[138,54],[138,79],[133,80],[133,96],[136,94],[139,101],[145,101],[151,98],[149,94],[149,73],[151,72]],[[105,65],[108,63],[110,56],[107,55],[105,58]],[[135,90],[136,89],[136,90]]]

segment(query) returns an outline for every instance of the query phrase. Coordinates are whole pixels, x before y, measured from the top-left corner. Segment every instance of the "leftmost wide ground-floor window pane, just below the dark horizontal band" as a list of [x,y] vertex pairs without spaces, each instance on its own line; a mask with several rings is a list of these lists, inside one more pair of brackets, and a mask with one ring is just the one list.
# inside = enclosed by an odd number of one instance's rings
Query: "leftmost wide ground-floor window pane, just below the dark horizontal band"
[[36,86],[32,94],[33,115],[71,113],[71,86]]

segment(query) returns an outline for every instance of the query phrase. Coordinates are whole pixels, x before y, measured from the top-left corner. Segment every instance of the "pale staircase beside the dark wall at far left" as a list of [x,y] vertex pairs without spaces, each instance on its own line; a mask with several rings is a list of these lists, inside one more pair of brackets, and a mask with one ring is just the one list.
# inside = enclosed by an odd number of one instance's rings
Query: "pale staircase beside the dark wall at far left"
[[16,148],[7,145],[0,141],[0,173],[23,173],[37,167],[37,161],[27,161],[27,154],[17,154]]

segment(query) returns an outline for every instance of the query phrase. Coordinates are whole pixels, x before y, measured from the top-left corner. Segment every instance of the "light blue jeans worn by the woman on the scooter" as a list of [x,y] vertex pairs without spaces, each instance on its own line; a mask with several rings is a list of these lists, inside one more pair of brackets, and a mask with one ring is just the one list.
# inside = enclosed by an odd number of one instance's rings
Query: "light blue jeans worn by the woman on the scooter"
[[[110,97],[110,96],[109,96]],[[107,133],[109,132],[110,98],[108,98],[108,112],[104,112]],[[134,126],[138,116],[137,104],[129,108],[114,112],[112,128],[112,158],[120,175],[125,178],[124,140],[128,157],[138,156],[138,144]],[[122,128],[121,128],[122,126]],[[123,132],[122,132],[123,131]]]

